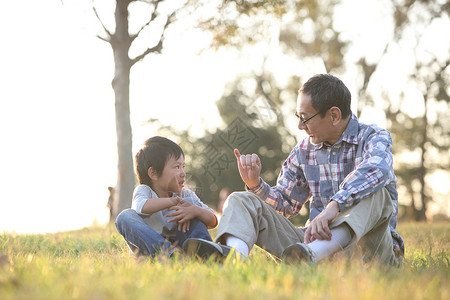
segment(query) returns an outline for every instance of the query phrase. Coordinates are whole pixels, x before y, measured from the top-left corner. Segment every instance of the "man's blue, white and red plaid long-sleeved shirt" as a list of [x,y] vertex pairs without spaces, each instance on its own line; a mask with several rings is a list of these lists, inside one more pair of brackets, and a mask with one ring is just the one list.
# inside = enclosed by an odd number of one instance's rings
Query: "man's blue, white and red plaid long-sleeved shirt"
[[398,194],[393,170],[392,140],[387,130],[360,123],[353,115],[345,132],[334,145],[313,145],[309,137],[301,140],[283,163],[277,185],[262,179],[253,190],[261,200],[280,214],[298,214],[311,198],[310,220],[331,201],[341,211],[386,188],[394,212],[389,223],[394,244],[404,251],[397,227]]

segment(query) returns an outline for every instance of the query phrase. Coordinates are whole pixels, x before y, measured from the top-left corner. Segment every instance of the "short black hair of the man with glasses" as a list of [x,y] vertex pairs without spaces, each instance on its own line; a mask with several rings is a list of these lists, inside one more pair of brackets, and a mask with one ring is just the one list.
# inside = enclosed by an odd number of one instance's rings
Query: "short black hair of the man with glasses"
[[311,77],[298,91],[311,96],[311,105],[320,116],[325,116],[328,109],[333,106],[341,110],[342,118],[351,115],[352,96],[345,84],[330,74],[318,74]]

